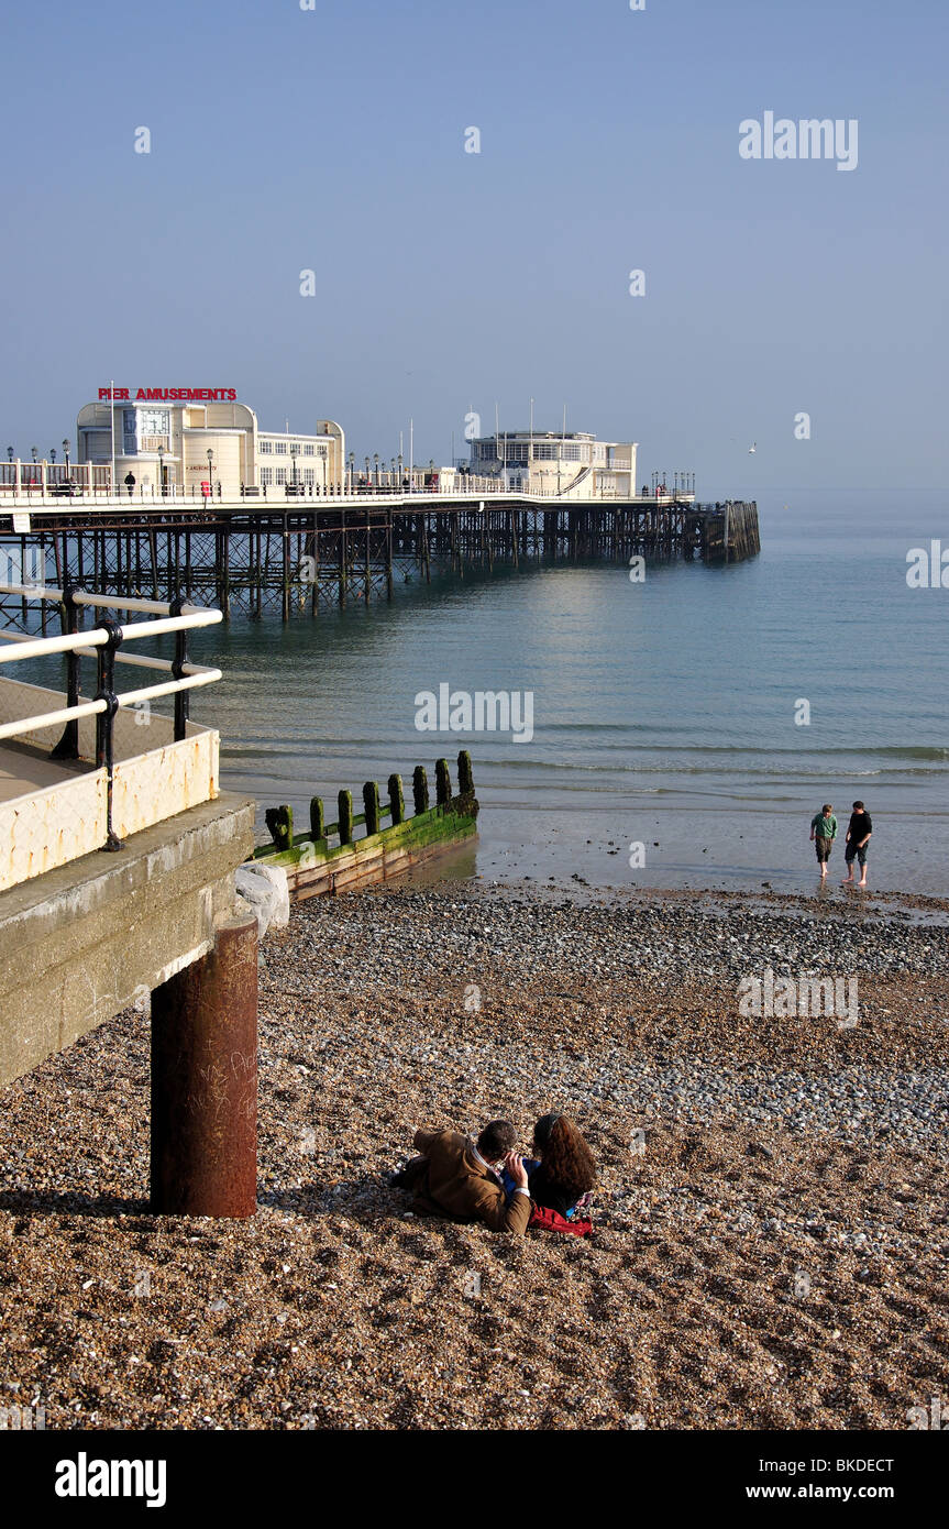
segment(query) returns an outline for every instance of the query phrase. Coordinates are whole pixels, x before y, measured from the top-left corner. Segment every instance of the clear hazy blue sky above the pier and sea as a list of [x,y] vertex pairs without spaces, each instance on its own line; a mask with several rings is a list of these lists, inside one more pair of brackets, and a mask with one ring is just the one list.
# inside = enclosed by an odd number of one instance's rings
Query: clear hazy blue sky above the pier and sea
[[[11,9],[0,446],[115,379],[448,460],[533,394],[642,482],[941,485],[947,41],[946,0]],[[857,168],[741,159],[766,110],[856,118]]]

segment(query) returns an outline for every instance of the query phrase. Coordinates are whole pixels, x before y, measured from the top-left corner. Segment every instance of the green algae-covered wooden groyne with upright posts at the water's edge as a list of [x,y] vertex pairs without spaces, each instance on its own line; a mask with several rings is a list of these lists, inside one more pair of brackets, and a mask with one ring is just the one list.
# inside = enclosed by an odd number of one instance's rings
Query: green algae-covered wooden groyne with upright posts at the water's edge
[[[377,781],[367,781],[361,813],[353,812],[353,794],[341,790],[336,823],[324,821],[322,797],[312,797],[307,833],[293,832],[292,807],[267,807],[264,818],[272,844],[257,849],[252,858],[283,868],[290,899],[303,901],[387,881],[463,844],[477,833],[478,816],[468,749],[458,754],[457,792],[452,792],[448,760],[436,760],[434,806],[428,772],[423,764],[416,766],[413,809],[406,815],[400,775],[388,778],[388,801],[381,800]],[[364,830],[359,838],[358,829]]]

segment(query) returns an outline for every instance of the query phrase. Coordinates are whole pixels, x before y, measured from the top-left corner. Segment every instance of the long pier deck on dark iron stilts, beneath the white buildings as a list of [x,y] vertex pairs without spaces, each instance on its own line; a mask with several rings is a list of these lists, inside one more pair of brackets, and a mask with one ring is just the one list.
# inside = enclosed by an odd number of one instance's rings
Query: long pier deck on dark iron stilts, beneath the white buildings
[[[758,506],[692,495],[585,498],[484,489],[238,500],[0,492],[0,583],[214,602],[225,619],[316,616],[397,583],[539,563],[726,564],[760,550]],[[21,612],[0,604],[0,624]],[[43,607],[43,621],[47,610]],[[46,630],[46,627],[43,628]]]

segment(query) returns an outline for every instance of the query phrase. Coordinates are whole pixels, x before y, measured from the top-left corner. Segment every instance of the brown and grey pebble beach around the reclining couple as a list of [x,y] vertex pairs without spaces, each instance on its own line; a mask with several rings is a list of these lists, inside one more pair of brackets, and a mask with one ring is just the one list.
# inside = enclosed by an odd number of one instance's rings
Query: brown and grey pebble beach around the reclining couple
[[[527,884],[261,943],[249,1222],[148,1214],[148,1017],[0,1096],[0,1407],[47,1428],[900,1430],[949,1391],[949,904]],[[740,983],[856,977],[856,1021]],[[590,1242],[416,1217],[419,1125],[570,1113]]]

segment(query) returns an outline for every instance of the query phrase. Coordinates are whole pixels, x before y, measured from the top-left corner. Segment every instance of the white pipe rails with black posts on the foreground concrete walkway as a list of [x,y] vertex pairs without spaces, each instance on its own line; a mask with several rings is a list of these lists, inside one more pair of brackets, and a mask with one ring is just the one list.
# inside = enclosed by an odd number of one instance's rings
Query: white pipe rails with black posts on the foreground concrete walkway
[[[40,716],[20,717],[14,722],[0,723],[0,740],[21,737],[37,732],[41,728],[66,725],[66,731],[53,751],[55,758],[78,758],[78,723],[83,717],[96,717],[96,766],[107,772],[107,849],[121,849],[112,832],[112,783],[113,783],[113,723],[119,706],[131,706],[144,700],[157,700],[162,696],[174,696],[174,739],[180,742],[186,735],[188,697],[193,690],[212,685],[222,679],[219,668],[208,668],[188,661],[188,631],[197,627],[211,627],[222,621],[220,610],[203,605],[188,605],[182,601],[167,604],[164,601],[141,599],[119,595],[90,595],[83,589],[49,589],[37,584],[0,584],[0,596],[18,595],[21,599],[52,601],[63,605],[69,631],[58,638],[34,638],[21,631],[0,631],[0,665],[15,664],[24,659],[38,659],[66,653],[69,661],[67,705]],[[79,628],[79,613],[84,607],[99,610],[125,610],[133,613],[154,615],[153,621],[104,621],[101,625],[83,631]],[[142,638],[157,638],[165,633],[176,636],[174,659],[150,657],[147,654],[125,654],[118,648],[124,642],[136,642]],[[93,700],[79,700],[79,659],[96,659],[96,694]],[[116,693],[115,665],[127,664],[138,668],[159,670],[171,674],[168,680],[154,685],[142,685],[138,690]]]

